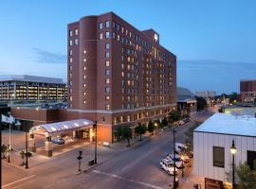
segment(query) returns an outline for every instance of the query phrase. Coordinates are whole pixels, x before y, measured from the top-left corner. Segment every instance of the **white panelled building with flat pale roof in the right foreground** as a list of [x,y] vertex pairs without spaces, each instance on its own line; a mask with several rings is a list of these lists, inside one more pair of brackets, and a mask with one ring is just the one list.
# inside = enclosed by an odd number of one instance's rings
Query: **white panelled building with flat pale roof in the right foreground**
[[[256,118],[215,113],[193,132],[194,174],[205,178],[207,188],[230,185],[230,146],[236,146],[235,164],[256,160]],[[228,187],[229,188],[229,187]]]

